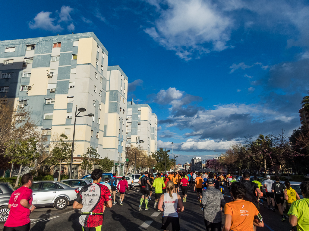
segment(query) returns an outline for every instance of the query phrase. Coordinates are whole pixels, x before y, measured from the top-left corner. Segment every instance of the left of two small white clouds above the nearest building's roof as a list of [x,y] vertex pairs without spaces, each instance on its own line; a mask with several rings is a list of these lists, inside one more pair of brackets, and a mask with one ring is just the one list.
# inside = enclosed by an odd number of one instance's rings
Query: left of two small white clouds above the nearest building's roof
[[53,32],[56,31],[62,31],[63,28],[61,27],[61,25],[54,24],[54,21],[56,20],[56,18],[51,18],[50,14],[52,14],[52,12],[40,12],[36,15],[36,17],[33,19],[34,22],[29,22],[29,28],[30,29],[43,29],[43,30],[50,30]]

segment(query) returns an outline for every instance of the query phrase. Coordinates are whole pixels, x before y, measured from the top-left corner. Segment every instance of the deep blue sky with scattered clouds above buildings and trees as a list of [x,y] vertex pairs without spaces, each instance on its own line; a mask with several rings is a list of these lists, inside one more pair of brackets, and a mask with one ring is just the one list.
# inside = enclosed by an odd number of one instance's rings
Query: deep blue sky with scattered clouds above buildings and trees
[[213,155],[290,134],[309,90],[309,3],[277,0],[2,2],[0,40],[93,31],[158,115],[159,147]]

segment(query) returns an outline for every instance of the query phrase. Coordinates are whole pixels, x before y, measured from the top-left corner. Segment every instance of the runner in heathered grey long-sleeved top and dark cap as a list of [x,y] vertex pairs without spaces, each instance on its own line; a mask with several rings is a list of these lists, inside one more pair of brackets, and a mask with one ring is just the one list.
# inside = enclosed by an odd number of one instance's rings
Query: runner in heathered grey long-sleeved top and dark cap
[[214,188],[214,179],[208,178],[206,184],[208,188],[203,190],[200,204],[204,211],[206,231],[221,231],[224,197],[220,190]]

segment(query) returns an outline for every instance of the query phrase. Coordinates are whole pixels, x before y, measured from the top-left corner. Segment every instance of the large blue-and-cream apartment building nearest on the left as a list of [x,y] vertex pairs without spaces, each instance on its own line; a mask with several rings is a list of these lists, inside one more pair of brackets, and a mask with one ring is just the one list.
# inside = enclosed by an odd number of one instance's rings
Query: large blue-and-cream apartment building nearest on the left
[[[79,115],[94,114],[76,118],[73,177],[83,174],[80,157],[91,146],[102,158],[114,160],[113,171],[123,164],[125,149],[118,135],[123,125],[116,118],[125,118],[126,109],[120,113],[119,107],[126,106],[127,91],[121,84],[127,85],[128,79],[118,66],[112,67],[118,74],[108,71],[108,51],[93,32],[0,41],[0,63],[1,96],[32,111],[48,142],[61,133],[72,140],[76,106],[86,109]],[[122,103],[116,100],[118,111],[116,101],[110,101],[116,91],[125,98]],[[104,142],[110,134],[119,142]]]

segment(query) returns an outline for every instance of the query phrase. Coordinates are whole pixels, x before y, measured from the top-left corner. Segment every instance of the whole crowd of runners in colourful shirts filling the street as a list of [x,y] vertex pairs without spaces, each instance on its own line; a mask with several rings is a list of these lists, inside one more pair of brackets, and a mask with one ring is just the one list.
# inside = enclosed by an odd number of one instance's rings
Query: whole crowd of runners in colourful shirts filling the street
[[[102,170],[91,173],[92,183],[84,186],[77,194],[73,208],[81,209],[79,223],[85,231],[101,230],[103,213],[117,204],[116,192],[119,192],[119,205],[123,205],[126,190],[129,191],[125,176],[105,178],[102,184]],[[9,217],[4,224],[4,231],[30,230],[29,215],[36,208],[32,202],[32,180],[30,173],[23,175],[22,187],[18,188],[9,201]],[[101,182],[101,183],[100,183]],[[149,209],[149,201],[154,201],[154,208],[163,212],[162,227],[166,231],[179,231],[179,213],[185,211],[188,189],[196,194],[197,211],[204,213],[206,231],[252,231],[263,227],[263,218],[259,213],[260,205],[276,212],[276,205],[281,214],[281,221],[289,218],[292,231],[309,230],[309,181],[300,184],[303,199],[290,187],[288,180],[281,183],[278,176],[275,181],[267,176],[262,183],[250,173],[244,172],[237,181],[233,174],[213,172],[168,172],[157,173],[154,177],[143,172],[138,181],[141,199],[138,211]],[[153,197],[153,193],[155,197]],[[263,201],[262,197],[267,198]],[[112,198],[113,196],[113,198]],[[224,196],[231,198],[226,203]],[[283,203],[286,201],[286,209]],[[144,205],[145,203],[145,205]],[[152,204],[152,203],[151,203]],[[222,229],[222,212],[224,224]]]

